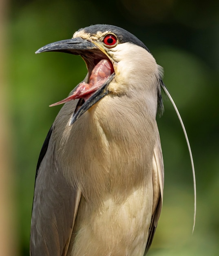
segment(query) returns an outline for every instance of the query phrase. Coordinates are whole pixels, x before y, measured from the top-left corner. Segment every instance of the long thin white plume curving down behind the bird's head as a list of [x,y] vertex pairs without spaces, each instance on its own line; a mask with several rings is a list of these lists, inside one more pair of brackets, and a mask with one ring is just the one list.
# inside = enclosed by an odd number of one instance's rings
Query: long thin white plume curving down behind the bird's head
[[185,128],[184,123],[181,119],[181,116],[179,114],[177,106],[176,106],[175,102],[173,101],[173,98],[171,97],[170,93],[168,92],[166,86],[164,85],[164,83],[162,81],[161,81],[161,87],[164,90],[164,92],[167,94],[171,103],[173,104],[173,107],[175,108],[175,111],[177,113],[177,116],[178,116],[179,121],[181,123],[181,126],[183,128],[183,132],[184,132],[186,142],[187,142],[187,145],[188,145],[188,151],[189,151],[189,155],[190,155],[190,159],[191,159],[191,165],[192,165],[193,186],[194,186],[194,220],[193,220],[193,228],[192,228],[192,233],[193,233],[193,231],[195,229],[195,218],[196,218],[196,181],[195,181],[195,166],[194,166],[193,157],[192,157],[192,150],[191,150],[190,143],[189,143],[189,140],[188,140],[188,136],[187,136],[187,133],[186,133],[186,128]]

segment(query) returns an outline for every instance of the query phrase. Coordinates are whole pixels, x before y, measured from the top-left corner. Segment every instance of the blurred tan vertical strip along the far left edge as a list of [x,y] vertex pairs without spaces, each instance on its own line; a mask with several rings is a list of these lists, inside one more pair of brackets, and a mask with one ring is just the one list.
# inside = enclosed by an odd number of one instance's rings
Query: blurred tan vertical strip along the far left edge
[[17,256],[7,66],[7,7],[0,0],[0,255]]

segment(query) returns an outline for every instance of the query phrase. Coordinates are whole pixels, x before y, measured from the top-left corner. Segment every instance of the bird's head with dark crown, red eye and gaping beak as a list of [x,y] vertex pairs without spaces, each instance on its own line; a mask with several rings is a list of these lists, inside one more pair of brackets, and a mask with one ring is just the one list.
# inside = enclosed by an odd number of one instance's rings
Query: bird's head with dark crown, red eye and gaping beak
[[[45,45],[36,53],[41,52],[80,55],[86,63],[88,74],[82,83],[69,97],[51,105],[80,99],[69,125],[106,94],[122,95],[135,90],[141,94],[145,84],[156,92],[158,105],[162,106],[161,68],[144,43],[125,29],[113,25],[85,27],[76,31],[73,38]],[[157,102],[155,105],[157,109]]]

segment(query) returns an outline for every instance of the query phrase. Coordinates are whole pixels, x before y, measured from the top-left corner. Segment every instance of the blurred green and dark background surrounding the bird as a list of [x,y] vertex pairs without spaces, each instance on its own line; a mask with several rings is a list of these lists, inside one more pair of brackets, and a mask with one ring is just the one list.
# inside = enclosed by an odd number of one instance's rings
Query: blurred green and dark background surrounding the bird
[[175,111],[164,96],[165,112],[157,118],[165,164],[164,204],[148,256],[219,255],[219,2],[11,0],[2,8],[7,84],[2,109],[7,115],[7,152],[12,155],[8,180],[13,184],[6,185],[11,221],[3,234],[10,255],[29,255],[35,167],[60,109],[49,105],[66,97],[86,75],[80,56],[34,52],[97,23],[135,34],[164,67],[164,83],[184,120],[194,156],[197,220],[192,235],[190,158]]

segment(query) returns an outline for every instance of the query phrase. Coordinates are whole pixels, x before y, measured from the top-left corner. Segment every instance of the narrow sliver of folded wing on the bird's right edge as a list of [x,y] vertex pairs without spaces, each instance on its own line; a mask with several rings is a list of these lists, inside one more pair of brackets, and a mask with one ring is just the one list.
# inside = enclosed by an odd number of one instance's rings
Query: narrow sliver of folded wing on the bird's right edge
[[157,131],[157,139],[155,143],[154,153],[153,153],[153,216],[151,218],[151,224],[148,234],[148,241],[144,255],[148,252],[150,245],[152,243],[159,216],[161,213],[162,203],[163,203],[163,190],[164,190],[164,162],[163,154],[161,149],[159,132]]

